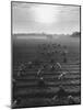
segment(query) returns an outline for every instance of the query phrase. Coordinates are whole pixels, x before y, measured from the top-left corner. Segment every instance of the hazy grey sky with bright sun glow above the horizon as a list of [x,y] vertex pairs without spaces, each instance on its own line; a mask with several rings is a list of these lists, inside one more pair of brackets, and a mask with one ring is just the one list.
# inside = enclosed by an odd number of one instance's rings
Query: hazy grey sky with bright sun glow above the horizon
[[13,33],[70,34],[80,31],[80,7],[12,3]]

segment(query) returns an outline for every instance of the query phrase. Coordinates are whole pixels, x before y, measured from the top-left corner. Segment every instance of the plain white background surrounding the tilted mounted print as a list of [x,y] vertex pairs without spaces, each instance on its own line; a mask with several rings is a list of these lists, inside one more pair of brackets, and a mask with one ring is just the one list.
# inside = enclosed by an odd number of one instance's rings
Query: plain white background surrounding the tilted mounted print
[[[11,2],[10,1],[11,0],[0,0],[0,110],[10,109],[10,95],[11,95],[11,90],[10,90],[11,89]],[[23,1],[23,0],[13,0],[13,1]],[[83,7],[83,3],[82,3],[83,0],[24,0],[24,1],[79,4]],[[82,41],[83,38],[81,36],[81,46],[83,46]],[[81,53],[81,56],[83,56],[83,52]],[[83,58],[81,58],[81,63],[83,63]],[[83,72],[83,65],[82,65],[82,72]],[[81,74],[81,77],[83,77],[82,74]],[[81,79],[81,84],[82,84],[82,80],[83,79]],[[83,85],[82,85],[82,88],[83,88]],[[82,89],[82,92],[83,92],[83,89]],[[42,109],[43,110],[51,110],[51,109],[52,110],[55,109],[57,110],[70,110],[70,109],[79,110],[80,109],[82,110],[82,108],[83,108],[83,105],[62,106],[62,107],[59,106],[59,107],[47,107],[47,108],[46,107],[29,108],[29,109],[34,109],[34,110],[42,110]]]

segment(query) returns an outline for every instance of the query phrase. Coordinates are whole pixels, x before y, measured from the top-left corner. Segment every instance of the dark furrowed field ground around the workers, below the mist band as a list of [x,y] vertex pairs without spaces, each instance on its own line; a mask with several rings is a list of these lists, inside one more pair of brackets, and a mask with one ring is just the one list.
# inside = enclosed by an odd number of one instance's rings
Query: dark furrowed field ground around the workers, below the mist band
[[[37,44],[13,45],[12,108],[80,105],[80,53],[74,47],[71,48],[68,47],[67,63],[63,63],[59,52],[49,55]],[[58,47],[52,50],[59,51]],[[60,63],[62,72],[68,72],[63,79],[58,79],[60,70],[49,68],[52,65],[51,58],[55,64]],[[31,61],[33,65],[28,67],[27,63]],[[19,76],[19,66],[22,63],[25,69]],[[47,65],[42,73],[44,80],[37,77],[42,65]]]

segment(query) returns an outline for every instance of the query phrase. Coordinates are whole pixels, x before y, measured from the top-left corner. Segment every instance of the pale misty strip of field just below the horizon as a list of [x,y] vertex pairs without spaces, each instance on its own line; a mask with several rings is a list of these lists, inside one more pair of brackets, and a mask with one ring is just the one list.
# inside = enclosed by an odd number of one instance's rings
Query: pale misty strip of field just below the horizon
[[[13,34],[13,42],[17,43],[35,44],[35,43],[59,43],[67,46],[74,46],[80,50],[80,33],[78,35],[64,35],[64,34]],[[34,42],[33,42],[34,41]]]

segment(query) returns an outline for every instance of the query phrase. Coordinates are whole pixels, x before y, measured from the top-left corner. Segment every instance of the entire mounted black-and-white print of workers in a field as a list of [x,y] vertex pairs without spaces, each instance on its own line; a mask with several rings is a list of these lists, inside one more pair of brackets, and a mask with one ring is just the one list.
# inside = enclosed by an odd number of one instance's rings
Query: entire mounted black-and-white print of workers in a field
[[11,2],[11,107],[81,105],[81,6]]

